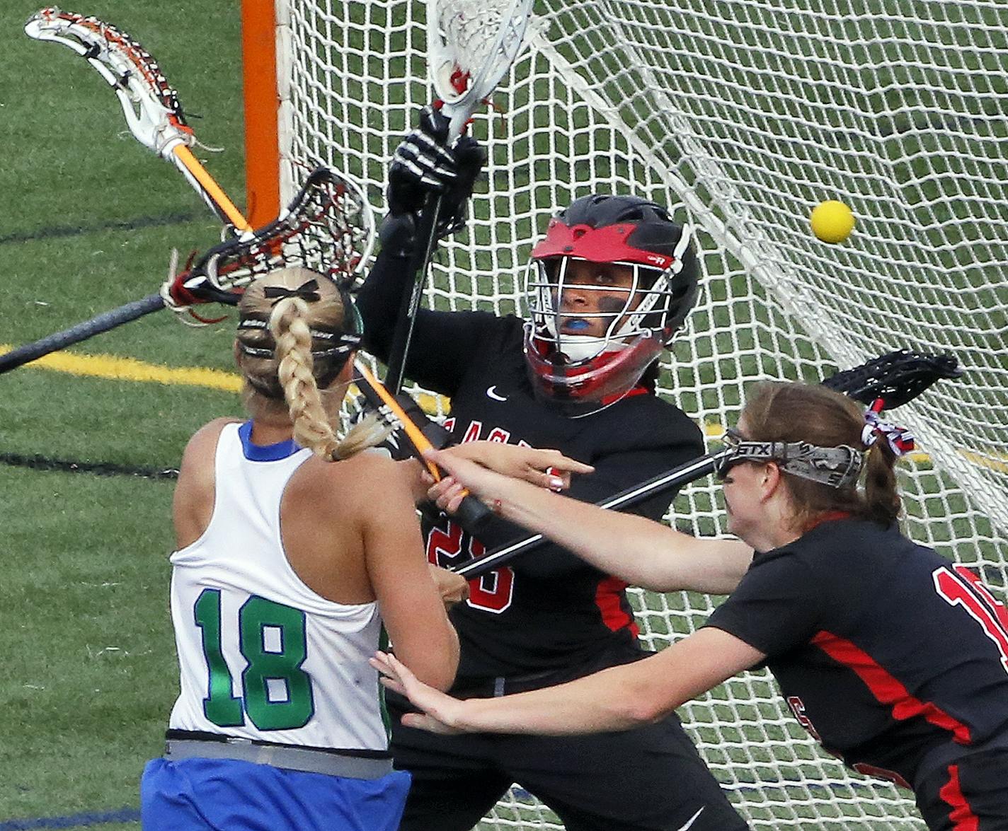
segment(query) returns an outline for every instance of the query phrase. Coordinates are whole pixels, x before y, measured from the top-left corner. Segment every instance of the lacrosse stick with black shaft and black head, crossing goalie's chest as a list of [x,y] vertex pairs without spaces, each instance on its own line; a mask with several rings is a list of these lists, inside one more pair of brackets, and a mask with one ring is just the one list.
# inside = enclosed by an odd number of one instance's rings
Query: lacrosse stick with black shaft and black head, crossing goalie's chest
[[[959,362],[951,355],[922,355],[909,350],[899,350],[875,358],[860,367],[839,372],[822,383],[823,386],[844,393],[862,404],[871,404],[881,398],[885,402],[885,409],[892,409],[916,398],[942,378],[959,378],[962,375]],[[714,472],[721,458],[730,452],[726,448],[700,456],[640,484],[621,491],[596,505],[608,511],[623,511],[649,499],[670,494],[683,484]],[[480,577],[548,542],[541,534],[525,537],[488,551],[483,556],[455,569],[455,573],[468,579]]]

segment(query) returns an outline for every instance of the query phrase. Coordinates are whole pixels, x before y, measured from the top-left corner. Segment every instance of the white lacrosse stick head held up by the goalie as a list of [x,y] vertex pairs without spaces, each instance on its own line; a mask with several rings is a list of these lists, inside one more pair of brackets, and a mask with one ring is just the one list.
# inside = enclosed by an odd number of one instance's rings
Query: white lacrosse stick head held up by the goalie
[[500,83],[521,49],[532,0],[433,0],[427,8],[427,71],[450,138]]

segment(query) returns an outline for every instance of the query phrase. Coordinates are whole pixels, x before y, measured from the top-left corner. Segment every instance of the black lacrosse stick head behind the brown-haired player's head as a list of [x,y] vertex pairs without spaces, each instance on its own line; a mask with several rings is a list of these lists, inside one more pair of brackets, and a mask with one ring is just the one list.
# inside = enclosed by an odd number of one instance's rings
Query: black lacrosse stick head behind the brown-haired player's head
[[951,355],[925,355],[897,350],[851,370],[839,372],[823,385],[862,404],[882,399],[891,410],[916,398],[942,378],[960,378],[963,370]]

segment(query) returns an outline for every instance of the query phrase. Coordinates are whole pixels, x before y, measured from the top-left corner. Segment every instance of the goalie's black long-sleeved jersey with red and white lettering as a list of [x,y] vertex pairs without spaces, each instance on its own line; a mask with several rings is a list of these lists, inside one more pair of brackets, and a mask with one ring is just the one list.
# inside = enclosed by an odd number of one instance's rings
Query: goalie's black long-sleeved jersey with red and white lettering
[[[387,356],[409,275],[404,259],[378,258],[360,292],[365,344]],[[555,448],[593,464],[571,496],[599,502],[704,452],[700,429],[680,410],[640,388],[592,415],[571,418],[533,394],[522,353],[523,322],[487,312],[417,316],[405,374],[452,399],[447,423],[460,441],[490,439]],[[670,496],[638,512],[660,520]],[[448,518],[423,524],[427,556],[452,568],[528,532],[492,521],[482,544]],[[459,631],[459,687],[473,679],[571,677],[607,648],[636,640],[626,584],[557,547],[544,546],[471,581],[451,617]]]

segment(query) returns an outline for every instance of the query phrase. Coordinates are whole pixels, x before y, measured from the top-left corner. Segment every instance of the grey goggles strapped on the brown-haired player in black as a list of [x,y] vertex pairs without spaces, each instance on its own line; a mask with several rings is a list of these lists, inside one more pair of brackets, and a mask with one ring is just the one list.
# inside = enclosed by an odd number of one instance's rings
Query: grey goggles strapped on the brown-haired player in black
[[854,447],[818,447],[806,441],[750,441],[738,430],[726,431],[725,453],[718,458],[715,474],[724,479],[743,461],[775,461],[781,470],[795,476],[844,488],[858,480],[865,454]]

